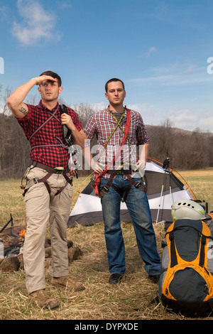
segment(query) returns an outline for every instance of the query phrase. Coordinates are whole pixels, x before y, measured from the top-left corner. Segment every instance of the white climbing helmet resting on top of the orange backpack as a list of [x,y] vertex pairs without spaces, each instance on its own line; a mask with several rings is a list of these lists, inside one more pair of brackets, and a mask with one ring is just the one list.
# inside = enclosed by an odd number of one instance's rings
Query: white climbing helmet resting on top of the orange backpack
[[202,205],[193,200],[177,200],[177,202],[172,205],[172,217],[173,220],[204,220],[206,219],[206,214]]

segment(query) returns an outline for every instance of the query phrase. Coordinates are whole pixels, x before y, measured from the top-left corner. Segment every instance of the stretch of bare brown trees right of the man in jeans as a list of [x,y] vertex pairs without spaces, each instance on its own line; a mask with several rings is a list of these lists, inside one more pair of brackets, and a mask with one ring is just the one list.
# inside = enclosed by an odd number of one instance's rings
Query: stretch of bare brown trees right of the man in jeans
[[170,158],[170,167],[192,170],[213,166],[213,134],[200,129],[184,131],[173,128],[167,119],[161,126],[147,126],[150,156],[163,161]]

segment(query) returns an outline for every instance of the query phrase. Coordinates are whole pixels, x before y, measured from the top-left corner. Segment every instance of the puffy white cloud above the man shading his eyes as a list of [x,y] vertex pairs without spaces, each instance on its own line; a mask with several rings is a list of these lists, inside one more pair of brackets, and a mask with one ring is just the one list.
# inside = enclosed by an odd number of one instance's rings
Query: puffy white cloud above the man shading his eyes
[[18,0],[21,20],[13,22],[13,36],[23,45],[35,45],[41,40],[55,39],[56,17],[50,10],[45,11],[39,1]]

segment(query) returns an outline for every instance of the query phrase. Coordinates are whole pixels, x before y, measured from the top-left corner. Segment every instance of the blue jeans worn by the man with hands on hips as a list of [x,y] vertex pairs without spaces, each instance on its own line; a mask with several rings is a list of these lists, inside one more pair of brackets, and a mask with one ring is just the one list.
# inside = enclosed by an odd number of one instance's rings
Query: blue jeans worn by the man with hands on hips
[[[141,182],[141,178],[134,178],[134,181]],[[107,185],[107,183],[108,180],[102,178],[100,189],[103,185]],[[124,180],[122,175],[117,175],[114,178],[113,184],[121,191],[124,197],[129,180]],[[102,197],[102,212],[109,271],[111,274],[124,274],[126,269],[125,246],[120,221],[120,203],[121,196],[119,193],[109,187],[109,192],[105,193]],[[157,252],[151,210],[146,193],[132,185],[126,198],[126,206],[133,222],[138,250],[145,263],[144,269],[146,269],[150,276],[159,275],[160,257]]]

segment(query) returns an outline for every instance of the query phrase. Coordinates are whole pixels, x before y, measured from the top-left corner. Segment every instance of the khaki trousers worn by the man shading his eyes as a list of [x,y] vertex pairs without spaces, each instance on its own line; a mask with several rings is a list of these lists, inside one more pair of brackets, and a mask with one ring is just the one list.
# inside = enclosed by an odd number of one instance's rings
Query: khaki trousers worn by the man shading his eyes
[[[48,172],[33,168],[28,173],[28,181],[43,178]],[[50,222],[52,247],[53,277],[67,276],[67,220],[70,215],[72,185],[69,183],[61,193],[55,193],[67,181],[62,174],[52,174],[48,178],[50,194],[44,183],[33,184],[28,188],[26,202],[27,231],[23,246],[23,261],[26,271],[26,288],[28,293],[45,289],[45,232]]]

